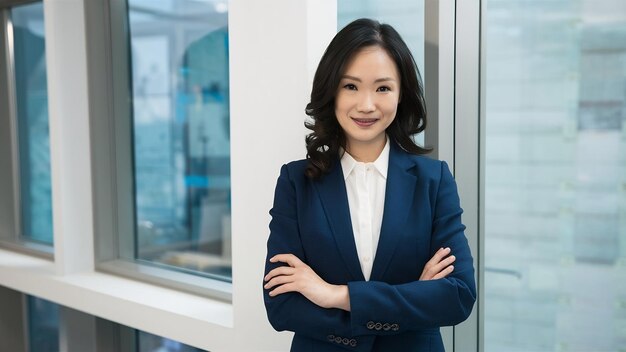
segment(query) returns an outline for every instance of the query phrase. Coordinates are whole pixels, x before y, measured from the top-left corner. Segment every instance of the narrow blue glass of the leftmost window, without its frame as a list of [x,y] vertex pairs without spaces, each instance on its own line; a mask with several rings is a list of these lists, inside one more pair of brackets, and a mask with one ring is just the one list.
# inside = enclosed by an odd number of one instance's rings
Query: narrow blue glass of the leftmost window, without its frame
[[43,4],[11,9],[20,160],[21,235],[52,244],[52,186]]

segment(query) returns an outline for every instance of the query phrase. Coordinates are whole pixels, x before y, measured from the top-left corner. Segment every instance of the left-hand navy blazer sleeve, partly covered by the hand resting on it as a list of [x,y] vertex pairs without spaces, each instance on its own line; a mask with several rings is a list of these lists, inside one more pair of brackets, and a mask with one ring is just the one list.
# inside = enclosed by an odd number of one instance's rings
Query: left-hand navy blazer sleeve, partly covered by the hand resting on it
[[[269,262],[276,254],[291,253],[307,262],[298,229],[295,184],[289,176],[286,165],[280,170],[270,215],[272,220],[267,242],[265,275],[270,270],[285,265]],[[354,336],[349,312],[319,307],[299,292],[287,292],[270,297],[269,290],[264,289],[263,298],[269,322],[277,331],[293,331],[352,351],[371,349],[374,336]],[[337,339],[341,342],[338,343]]]

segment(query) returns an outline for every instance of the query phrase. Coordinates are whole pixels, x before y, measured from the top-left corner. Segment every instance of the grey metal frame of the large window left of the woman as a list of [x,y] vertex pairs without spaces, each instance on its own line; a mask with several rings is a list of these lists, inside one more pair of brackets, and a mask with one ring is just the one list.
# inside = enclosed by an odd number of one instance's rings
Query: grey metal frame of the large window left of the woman
[[231,282],[126,259],[136,245],[128,2],[85,6],[96,269],[232,302]]

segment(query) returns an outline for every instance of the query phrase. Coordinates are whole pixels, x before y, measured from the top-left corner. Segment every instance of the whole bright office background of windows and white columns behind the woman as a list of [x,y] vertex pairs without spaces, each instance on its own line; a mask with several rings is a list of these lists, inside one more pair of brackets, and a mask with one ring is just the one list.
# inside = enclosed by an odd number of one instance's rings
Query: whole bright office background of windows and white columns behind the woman
[[446,349],[626,351],[622,0],[0,0],[0,350],[287,350],[268,211],[360,17],[459,185],[479,300]]

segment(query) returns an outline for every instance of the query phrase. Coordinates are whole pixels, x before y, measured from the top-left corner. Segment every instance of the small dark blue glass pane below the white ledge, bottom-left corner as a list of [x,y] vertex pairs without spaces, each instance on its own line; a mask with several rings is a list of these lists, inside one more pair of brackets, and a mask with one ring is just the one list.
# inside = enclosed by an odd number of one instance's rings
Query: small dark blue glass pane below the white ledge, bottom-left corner
[[59,306],[28,296],[28,340],[31,352],[59,351]]

